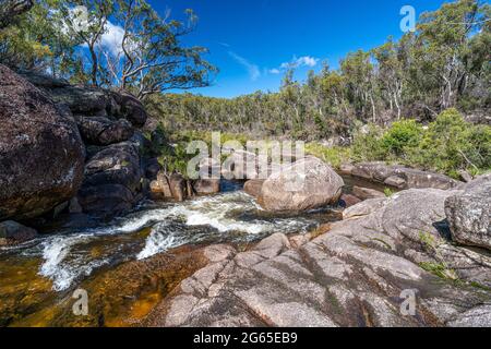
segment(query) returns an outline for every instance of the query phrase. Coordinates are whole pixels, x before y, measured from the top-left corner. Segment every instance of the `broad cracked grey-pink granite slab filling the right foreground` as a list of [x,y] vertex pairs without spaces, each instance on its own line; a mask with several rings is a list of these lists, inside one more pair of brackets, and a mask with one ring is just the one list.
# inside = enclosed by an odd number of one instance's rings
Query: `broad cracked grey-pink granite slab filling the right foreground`
[[310,242],[278,233],[247,252],[206,248],[207,266],[143,325],[490,326],[491,258],[453,245],[444,224],[456,193],[363,202]]

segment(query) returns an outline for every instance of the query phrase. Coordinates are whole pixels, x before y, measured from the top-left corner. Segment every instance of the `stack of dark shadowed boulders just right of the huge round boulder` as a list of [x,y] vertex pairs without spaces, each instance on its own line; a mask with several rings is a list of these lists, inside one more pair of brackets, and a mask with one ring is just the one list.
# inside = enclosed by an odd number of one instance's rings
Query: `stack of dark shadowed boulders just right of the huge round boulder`
[[[82,136],[85,142],[86,157],[81,157],[77,185],[69,195],[53,194],[57,204],[70,201],[76,194],[80,207],[76,207],[76,213],[67,209],[68,214],[83,213],[97,218],[110,218],[131,209],[148,190],[148,184],[145,186],[145,156],[149,153],[151,144],[137,130],[147,118],[142,104],[123,92],[73,86],[63,80],[33,72],[21,74],[53,100],[64,115],[73,116],[70,117],[73,130],[79,140]],[[37,103],[36,96],[33,104]],[[56,163],[51,168],[63,165],[62,158],[56,154],[62,151],[62,146],[56,145],[43,151],[45,157]],[[76,159],[75,156],[72,158]],[[49,164],[47,161],[46,165]],[[31,171],[26,173],[31,174]]]

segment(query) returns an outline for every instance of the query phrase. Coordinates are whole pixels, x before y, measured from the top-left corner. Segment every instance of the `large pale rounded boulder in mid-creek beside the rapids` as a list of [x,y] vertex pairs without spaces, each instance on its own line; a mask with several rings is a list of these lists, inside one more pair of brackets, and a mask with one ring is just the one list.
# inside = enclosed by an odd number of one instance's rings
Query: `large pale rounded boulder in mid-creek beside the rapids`
[[336,203],[344,185],[327,164],[306,157],[270,176],[258,201],[271,212],[309,210]]

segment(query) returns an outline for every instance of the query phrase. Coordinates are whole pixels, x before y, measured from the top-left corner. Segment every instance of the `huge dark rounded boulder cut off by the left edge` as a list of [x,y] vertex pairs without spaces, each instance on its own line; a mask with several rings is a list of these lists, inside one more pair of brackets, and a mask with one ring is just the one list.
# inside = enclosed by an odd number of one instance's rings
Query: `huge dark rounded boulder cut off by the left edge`
[[70,112],[0,64],[0,220],[49,212],[76,194],[85,147]]

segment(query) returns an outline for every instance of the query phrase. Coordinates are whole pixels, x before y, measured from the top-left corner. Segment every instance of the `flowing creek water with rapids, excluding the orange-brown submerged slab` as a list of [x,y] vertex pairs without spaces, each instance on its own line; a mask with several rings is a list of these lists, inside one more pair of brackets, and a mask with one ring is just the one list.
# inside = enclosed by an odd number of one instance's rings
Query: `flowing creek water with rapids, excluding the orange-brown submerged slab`
[[[64,229],[0,249],[0,325],[36,325],[44,309],[82,282],[125,262],[185,245],[254,243],[272,233],[307,233],[336,220],[333,207],[298,216],[264,212],[242,184],[183,203],[145,202],[125,217],[97,228]],[[47,306],[47,308],[44,308]],[[31,313],[36,313],[31,318]],[[29,317],[31,316],[31,317]],[[22,318],[29,322],[22,322]]]

